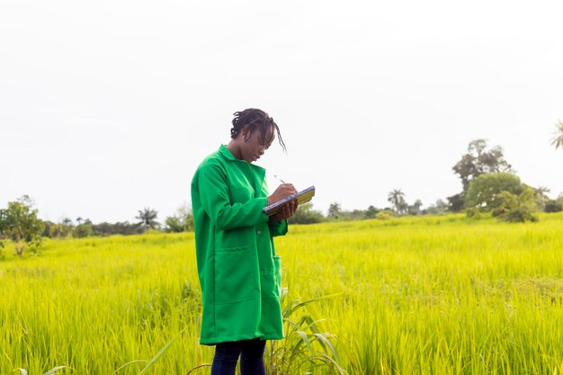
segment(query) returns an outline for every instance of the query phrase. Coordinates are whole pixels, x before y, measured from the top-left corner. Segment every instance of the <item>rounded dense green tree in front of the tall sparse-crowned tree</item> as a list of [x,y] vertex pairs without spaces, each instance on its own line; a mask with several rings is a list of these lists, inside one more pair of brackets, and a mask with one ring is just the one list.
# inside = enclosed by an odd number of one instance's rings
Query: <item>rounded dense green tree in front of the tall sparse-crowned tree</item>
[[495,210],[502,203],[501,192],[520,194],[524,185],[514,174],[481,174],[471,181],[465,197],[465,208],[483,212]]

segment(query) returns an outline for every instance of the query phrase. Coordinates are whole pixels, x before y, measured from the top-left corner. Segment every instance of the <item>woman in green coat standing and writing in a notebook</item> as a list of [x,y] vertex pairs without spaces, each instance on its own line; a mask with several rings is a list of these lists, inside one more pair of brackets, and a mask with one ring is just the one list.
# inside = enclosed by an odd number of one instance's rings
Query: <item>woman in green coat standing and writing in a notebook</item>
[[291,201],[273,217],[263,208],[297,192],[281,184],[268,196],[264,168],[253,163],[280,129],[264,111],[235,112],[227,146],[205,158],[192,179],[195,246],[203,314],[201,344],[215,344],[211,375],[265,374],[265,340],[283,338],[280,257],[273,237],[287,233]]

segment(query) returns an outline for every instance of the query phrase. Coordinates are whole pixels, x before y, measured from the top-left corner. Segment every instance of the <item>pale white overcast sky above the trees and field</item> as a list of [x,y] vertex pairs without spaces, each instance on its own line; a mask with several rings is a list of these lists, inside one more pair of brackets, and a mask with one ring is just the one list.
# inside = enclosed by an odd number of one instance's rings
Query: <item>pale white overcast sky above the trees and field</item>
[[269,112],[288,154],[259,161],[314,205],[424,207],[460,192],[469,141],[563,192],[560,1],[0,2],[0,207],[164,221],[229,140]]

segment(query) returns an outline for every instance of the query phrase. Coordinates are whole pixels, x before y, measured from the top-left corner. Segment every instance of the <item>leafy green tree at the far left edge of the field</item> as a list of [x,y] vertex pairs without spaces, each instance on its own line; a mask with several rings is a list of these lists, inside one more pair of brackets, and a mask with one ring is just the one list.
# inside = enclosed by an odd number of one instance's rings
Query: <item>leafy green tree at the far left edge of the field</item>
[[0,210],[0,241],[10,239],[15,245],[15,254],[22,256],[26,249],[39,251],[43,223],[37,218],[38,210],[24,195],[19,201],[8,202],[8,208]]

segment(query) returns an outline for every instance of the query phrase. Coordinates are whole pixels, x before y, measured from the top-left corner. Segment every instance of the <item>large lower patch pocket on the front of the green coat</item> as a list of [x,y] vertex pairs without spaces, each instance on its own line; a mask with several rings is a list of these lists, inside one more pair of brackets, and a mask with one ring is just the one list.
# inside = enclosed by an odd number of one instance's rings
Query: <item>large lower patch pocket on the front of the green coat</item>
[[235,303],[253,299],[257,283],[257,258],[248,246],[215,250],[215,302]]

